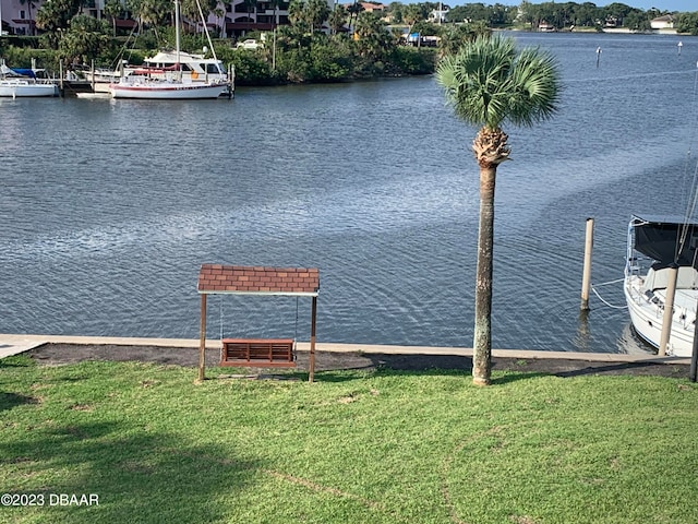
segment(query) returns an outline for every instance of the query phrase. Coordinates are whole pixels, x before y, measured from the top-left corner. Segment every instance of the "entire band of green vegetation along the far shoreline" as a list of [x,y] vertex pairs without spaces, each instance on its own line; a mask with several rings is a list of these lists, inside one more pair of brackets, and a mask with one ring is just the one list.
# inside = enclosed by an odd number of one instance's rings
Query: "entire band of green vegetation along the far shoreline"
[[[182,9],[190,9],[189,3],[182,1]],[[204,10],[218,9],[216,0],[203,3]],[[382,9],[365,10],[358,2],[330,9],[325,0],[279,0],[278,8],[288,11],[288,24],[233,38],[215,28],[213,47],[226,66],[234,67],[238,85],[276,85],[430,74],[440,57],[494,29],[645,33],[652,31],[652,20],[670,16],[677,33],[698,35],[698,11],[643,11],[624,3],[597,8],[591,2],[522,1],[453,9],[438,2],[370,4]],[[174,47],[170,0],[128,0],[128,12],[118,0],[107,0],[101,20],[82,14],[80,0],[43,4],[36,12],[38,34],[0,38],[0,56],[11,67],[34,63],[57,74],[87,71],[93,64],[117,69],[122,60],[137,66],[158,49]],[[119,34],[117,20],[127,15],[137,22],[137,31]],[[184,27],[182,50],[212,55],[201,31],[201,24]],[[244,39],[255,39],[258,46],[238,47]]]

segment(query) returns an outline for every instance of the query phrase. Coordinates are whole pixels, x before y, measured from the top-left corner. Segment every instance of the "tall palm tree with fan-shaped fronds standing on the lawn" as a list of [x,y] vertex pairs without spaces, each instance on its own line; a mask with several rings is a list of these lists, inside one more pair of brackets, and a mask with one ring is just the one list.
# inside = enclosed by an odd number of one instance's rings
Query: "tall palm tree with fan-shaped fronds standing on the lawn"
[[472,143],[480,166],[480,225],[476,274],[472,377],[490,384],[492,372],[492,248],[497,166],[509,157],[501,124],[530,127],[557,110],[559,72],[554,57],[538,48],[517,51],[513,38],[479,36],[436,70],[456,116],[480,128]]

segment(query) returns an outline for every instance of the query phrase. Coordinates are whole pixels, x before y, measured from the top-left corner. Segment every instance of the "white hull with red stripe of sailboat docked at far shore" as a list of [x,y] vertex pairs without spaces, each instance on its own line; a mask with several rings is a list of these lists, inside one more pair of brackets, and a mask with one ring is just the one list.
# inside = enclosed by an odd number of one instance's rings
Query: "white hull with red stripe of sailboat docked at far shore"
[[189,84],[178,82],[118,83],[110,84],[112,98],[135,98],[148,100],[194,100],[215,99],[225,96],[227,86],[222,84]]

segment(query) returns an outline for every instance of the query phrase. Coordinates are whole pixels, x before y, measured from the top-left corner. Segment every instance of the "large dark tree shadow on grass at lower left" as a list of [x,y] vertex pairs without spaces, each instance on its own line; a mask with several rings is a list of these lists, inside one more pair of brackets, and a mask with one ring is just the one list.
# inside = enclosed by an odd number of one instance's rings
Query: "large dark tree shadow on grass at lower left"
[[[43,478],[47,504],[34,509],[37,517],[79,524],[225,522],[260,468],[224,445],[113,422],[35,430],[0,445],[0,456],[16,465],[14,475]],[[50,493],[97,496],[98,505],[49,507]]]

